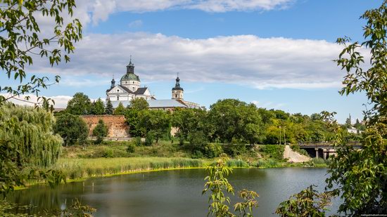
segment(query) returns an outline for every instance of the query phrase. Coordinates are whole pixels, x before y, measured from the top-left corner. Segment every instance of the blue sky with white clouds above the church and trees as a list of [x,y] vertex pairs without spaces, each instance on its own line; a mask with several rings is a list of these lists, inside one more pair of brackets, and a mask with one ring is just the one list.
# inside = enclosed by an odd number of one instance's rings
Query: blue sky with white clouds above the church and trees
[[[59,84],[42,89],[56,107],[77,92],[106,98],[110,80],[126,72],[130,56],[141,86],[157,99],[171,98],[179,73],[184,100],[210,107],[236,98],[290,113],[337,112],[362,119],[364,93],[340,96],[334,59],[338,37],[363,40],[360,15],[381,0],[82,0],[75,17],[84,27],[70,63],[50,67],[34,58],[28,74]],[[52,32],[49,20],[42,35]],[[65,20],[70,18],[65,17]],[[367,49],[361,49],[367,58]],[[367,67],[367,64],[364,65]],[[16,86],[4,73],[0,86]],[[4,94],[4,93],[3,93]],[[33,100],[33,99],[32,99]]]

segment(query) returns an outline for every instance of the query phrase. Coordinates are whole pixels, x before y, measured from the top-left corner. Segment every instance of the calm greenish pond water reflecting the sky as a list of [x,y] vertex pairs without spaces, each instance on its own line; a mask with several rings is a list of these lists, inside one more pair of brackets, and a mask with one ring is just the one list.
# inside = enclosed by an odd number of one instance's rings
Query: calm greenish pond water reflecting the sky
[[[206,172],[182,169],[94,178],[51,189],[34,186],[13,192],[10,199],[37,206],[31,210],[65,208],[72,199],[97,209],[95,216],[206,216],[208,195],[201,195]],[[234,169],[229,182],[235,192],[255,190],[255,216],[273,216],[278,204],[309,185],[324,189],[324,168]],[[231,202],[236,202],[231,197]],[[334,203],[335,204],[335,203]],[[331,207],[333,212],[336,206]],[[275,216],[275,215],[274,215]]]

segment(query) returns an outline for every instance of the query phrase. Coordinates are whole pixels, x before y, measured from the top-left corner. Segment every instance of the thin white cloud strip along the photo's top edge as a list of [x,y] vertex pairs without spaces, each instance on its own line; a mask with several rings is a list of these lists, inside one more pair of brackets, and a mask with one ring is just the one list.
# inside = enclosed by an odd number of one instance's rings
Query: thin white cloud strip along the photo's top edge
[[269,11],[286,8],[296,0],[82,0],[77,1],[75,17],[86,26],[105,21],[112,13],[196,9],[211,13],[227,11]]

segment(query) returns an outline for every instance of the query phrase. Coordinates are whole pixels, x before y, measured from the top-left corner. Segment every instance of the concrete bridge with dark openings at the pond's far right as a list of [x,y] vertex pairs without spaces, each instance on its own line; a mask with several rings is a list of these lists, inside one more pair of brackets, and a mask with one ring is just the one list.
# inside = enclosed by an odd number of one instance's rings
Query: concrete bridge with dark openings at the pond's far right
[[[322,157],[328,159],[329,156],[336,155],[336,149],[332,143],[300,143],[300,148],[306,150],[310,157]],[[362,143],[357,141],[350,141],[347,145],[352,146],[355,149],[362,148]]]

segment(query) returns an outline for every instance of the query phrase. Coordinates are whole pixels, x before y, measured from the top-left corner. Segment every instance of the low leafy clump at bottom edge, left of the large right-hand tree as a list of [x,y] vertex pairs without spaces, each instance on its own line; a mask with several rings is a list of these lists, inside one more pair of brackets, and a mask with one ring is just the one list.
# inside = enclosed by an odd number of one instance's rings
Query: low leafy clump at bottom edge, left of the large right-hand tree
[[331,192],[319,193],[313,185],[281,202],[276,210],[280,216],[325,216],[326,206],[331,204]]

